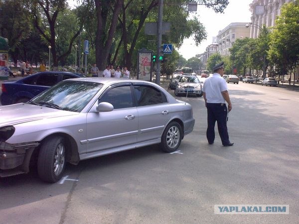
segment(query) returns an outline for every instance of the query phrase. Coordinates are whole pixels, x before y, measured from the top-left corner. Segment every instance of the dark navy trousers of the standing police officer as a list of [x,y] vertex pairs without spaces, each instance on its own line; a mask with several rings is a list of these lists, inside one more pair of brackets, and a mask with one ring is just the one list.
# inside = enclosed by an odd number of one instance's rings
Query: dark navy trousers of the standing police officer
[[227,107],[226,104],[206,104],[208,111],[208,128],[207,139],[209,143],[213,143],[215,139],[215,122],[217,121],[218,132],[223,145],[229,144],[227,132]]

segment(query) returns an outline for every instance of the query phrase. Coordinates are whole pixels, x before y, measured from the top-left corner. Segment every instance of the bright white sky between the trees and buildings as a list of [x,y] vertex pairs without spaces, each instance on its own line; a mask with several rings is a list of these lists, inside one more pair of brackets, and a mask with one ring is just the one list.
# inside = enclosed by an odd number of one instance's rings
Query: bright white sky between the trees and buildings
[[250,22],[251,12],[249,4],[253,0],[229,0],[224,13],[216,13],[203,5],[197,6],[196,17],[205,26],[207,39],[196,47],[192,37],[185,39],[178,49],[180,55],[186,60],[195,57],[196,54],[205,52],[208,45],[212,44],[212,38],[217,36],[219,30],[224,29],[232,22]]

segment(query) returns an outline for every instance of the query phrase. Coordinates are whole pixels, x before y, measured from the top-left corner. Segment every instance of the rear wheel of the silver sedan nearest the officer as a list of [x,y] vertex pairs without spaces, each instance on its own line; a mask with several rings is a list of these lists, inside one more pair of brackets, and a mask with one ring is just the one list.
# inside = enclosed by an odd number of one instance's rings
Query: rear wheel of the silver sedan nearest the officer
[[161,137],[160,147],[164,152],[174,152],[182,140],[182,128],[176,121],[170,122]]

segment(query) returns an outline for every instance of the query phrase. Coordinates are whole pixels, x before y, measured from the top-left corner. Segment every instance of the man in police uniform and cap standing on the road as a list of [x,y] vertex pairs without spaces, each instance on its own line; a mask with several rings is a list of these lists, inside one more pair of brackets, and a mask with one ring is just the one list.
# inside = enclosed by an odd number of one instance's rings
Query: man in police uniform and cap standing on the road
[[[222,78],[224,74],[223,62],[213,68],[214,74],[210,75],[203,84],[203,98],[208,111],[207,139],[209,144],[214,143],[215,122],[217,121],[218,132],[223,146],[232,146],[227,132],[227,114],[232,110],[232,103],[227,91],[227,84]],[[225,101],[228,103],[226,107]]]

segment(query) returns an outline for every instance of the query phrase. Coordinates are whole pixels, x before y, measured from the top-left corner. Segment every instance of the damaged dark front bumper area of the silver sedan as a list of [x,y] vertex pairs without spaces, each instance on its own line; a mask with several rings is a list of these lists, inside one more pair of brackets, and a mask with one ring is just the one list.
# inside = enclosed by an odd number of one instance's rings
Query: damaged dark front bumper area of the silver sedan
[[38,142],[9,144],[0,141],[0,177],[29,172],[29,163]]

